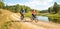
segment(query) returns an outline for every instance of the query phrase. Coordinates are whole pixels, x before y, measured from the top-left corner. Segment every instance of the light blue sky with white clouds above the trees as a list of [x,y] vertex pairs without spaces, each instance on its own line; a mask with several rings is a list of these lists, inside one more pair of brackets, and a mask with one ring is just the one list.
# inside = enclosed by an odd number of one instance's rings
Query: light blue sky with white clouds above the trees
[[54,2],[60,4],[60,0],[4,0],[6,5],[25,5],[31,9],[45,10],[53,6]]

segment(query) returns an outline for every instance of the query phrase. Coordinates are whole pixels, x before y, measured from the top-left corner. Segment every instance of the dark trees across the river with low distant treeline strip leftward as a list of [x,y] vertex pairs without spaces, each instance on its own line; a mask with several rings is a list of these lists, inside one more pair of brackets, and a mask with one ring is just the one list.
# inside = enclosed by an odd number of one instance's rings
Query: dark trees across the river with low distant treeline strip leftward
[[51,14],[56,14],[60,13],[60,5],[57,4],[57,2],[54,2],[54,5],[49,7],[48,10],[42,10],[40,13],[51,13]]

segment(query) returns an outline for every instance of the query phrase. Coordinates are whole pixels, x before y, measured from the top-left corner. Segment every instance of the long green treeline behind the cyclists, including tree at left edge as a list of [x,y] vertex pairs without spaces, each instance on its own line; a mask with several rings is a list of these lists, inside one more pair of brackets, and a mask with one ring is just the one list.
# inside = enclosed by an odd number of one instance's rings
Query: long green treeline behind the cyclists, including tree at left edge
[[[26,13],[32,10],[28,6],[19,5],[19,4],[12,5],[12,6],[9,6],[9,5],[5,6],[5,4],[2,0],[0,1],[0,9],[6,9],[6,10],[9,10],[9,11],[15,12],[15,13],[19,12],[21,9],[24,9]],[[36,10],[36,11],[38,11],[38,10]]]

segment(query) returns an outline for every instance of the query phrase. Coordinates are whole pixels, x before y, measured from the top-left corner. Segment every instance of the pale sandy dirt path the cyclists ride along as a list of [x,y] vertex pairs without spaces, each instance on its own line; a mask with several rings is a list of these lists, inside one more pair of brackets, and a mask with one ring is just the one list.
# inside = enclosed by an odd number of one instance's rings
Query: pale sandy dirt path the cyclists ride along
[[[16,21],[20,21],[20,16],[12,14],[12,17]],[[38,23],[33,22],[21,22],[23,29],[60,29],[60,24],[53,24],[49,22],[38,21]]]

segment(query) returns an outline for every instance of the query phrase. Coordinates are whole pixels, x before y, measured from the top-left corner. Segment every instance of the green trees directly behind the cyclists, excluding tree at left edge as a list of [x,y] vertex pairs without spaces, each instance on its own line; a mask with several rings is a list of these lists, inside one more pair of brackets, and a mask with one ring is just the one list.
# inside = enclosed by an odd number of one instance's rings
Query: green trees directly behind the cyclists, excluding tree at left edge
[[13,6],[6,5],[5,9],[7,9],[9,11],[12,11],[12,12],[15,12],[15,13],[20,12],[21,9],[24,9],[25,12],[28,12],[28,11],[31,10],[30,7],[28,7],[28,6],[22,6],[22,5],[19,5],[19,4],[13,5]]

